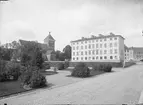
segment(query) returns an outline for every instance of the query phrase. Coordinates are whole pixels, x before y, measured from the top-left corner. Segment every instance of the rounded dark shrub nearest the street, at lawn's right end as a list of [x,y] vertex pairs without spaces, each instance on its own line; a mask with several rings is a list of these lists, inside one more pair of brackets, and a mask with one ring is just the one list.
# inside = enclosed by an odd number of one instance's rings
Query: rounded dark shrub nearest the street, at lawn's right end
[[46,86],[46,78],[42,74],[40,74],[39,71],[34,71],[32,73],[32,76],[29,82],[30,82],[30,87],[32,88]]

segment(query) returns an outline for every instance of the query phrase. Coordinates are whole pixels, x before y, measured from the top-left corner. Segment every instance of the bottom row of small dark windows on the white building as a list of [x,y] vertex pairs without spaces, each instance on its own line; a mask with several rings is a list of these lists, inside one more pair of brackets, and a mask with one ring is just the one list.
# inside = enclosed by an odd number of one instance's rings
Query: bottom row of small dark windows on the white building
[[[73,60],[106,60],[107,56],[100,57],[73,57]],[[110,56],[109,59],[118,59],[117,56]]]

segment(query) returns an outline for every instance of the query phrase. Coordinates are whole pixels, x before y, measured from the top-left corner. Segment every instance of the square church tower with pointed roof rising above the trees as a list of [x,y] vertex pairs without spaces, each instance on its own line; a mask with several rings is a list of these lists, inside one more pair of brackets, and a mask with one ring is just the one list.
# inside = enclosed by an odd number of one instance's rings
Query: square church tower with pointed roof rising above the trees
[[47,44],[50,50],[55,50],[55,39],[51,36],[51,32],[49,32],[49,35],[44,39],[44,44]]

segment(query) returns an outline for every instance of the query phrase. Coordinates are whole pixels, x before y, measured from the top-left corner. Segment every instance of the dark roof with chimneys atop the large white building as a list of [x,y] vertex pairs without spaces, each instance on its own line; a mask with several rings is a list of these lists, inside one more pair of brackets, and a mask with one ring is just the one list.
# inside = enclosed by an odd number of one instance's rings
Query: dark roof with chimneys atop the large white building
[[85,40],[93,40],[93,39],[104,39],[104,38],[109,38],[109,37],[121,37],[121,38],[125,39],[125,38],[122,37],[121,35],[115,35],[115,34],[113,34],[113,33],[110,33],[110,35],[102,35],[102,34],[99,34],[99,36],[94,36],[94,35],[92,35],[90,38],[84,38],[84,37],[82,37],[81,39],[74,40],[74,41],[71,41],[71,42],[78,42],[78,41],[85,41]]

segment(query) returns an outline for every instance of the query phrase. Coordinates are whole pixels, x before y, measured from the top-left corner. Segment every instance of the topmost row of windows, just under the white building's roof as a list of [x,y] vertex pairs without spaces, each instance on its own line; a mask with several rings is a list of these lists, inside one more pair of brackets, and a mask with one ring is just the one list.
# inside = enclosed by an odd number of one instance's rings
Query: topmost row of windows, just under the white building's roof
[[[115,37],[115,38],[109,38],[109,40],[111,40],[111,41],[112,41],[112,40],[117,40],[117,37]],[[73,42],[72,44],[75,45],[75,44],[79,44],[79,43],[81,43],[81,44],[83,44],[83,43],[91,43],[91,42],[94,43],[95,41],[96,41],[96,42],[99,42],[99,41],[100,41],[100,42],[102,42],[102,41],[107,41],[107,38],[104,38],[104,39],[96,39],[96,40],[94,39],[94,40],[88,40],[88,41],[85,40],[85,41],[81,41],[81,42]]]

